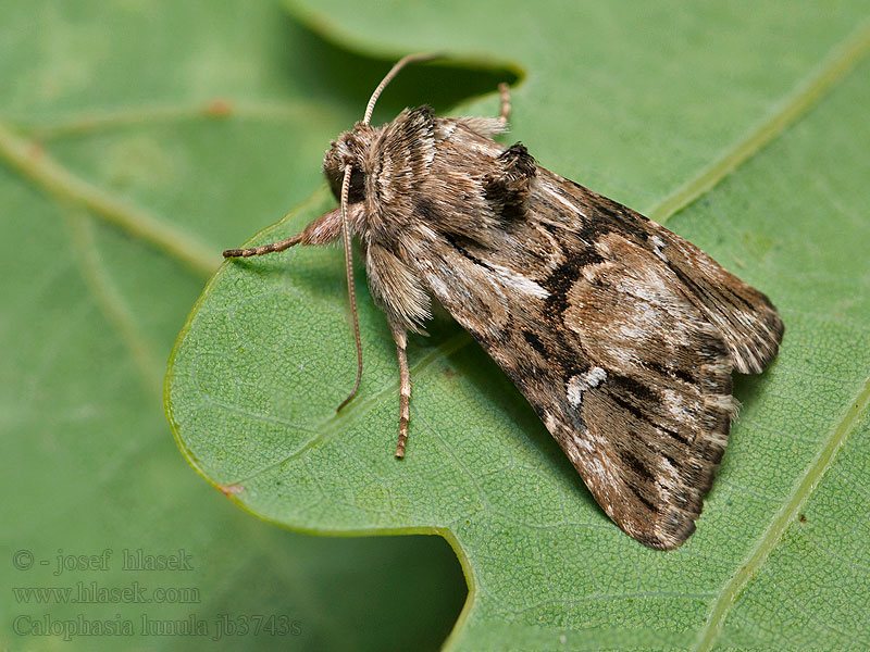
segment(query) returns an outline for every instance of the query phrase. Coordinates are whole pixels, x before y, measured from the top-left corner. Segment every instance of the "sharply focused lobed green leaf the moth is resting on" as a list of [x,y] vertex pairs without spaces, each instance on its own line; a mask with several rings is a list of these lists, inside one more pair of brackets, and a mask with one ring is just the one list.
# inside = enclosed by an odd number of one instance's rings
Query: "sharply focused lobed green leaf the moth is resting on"
[[[522,71],[511,138],[556,172],[674,215],[669,227],[780,308],[781,354],[737,379],[741,418],[683,548],[618,530],[443,317],[409,347],[411,439],[394,460],[395,352],[359,277],[366,367],[336,415],[355,359],[335,249],[221,267],[171,361],[173,427],[197,469],[263,518],[445,537],[470,586],[451,649],[857,645],[870,635],[866,8],[624,4],[288,2],[369,54],[448,49]],[[494,114],[497,99],[463,109]],[[251,243],[332,205],[318,193]]]

